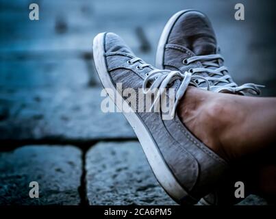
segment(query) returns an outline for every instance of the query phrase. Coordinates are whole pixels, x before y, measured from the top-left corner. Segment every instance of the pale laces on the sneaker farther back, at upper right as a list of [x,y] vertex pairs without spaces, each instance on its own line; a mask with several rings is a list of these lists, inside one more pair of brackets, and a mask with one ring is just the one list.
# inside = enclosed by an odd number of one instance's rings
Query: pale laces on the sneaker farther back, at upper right
[[[231,76],[228,74],[228,69],[225,66],[219,66],[218,60],[223,60],[221,54],[212,54],[212,55],[196,55],[188,57],[183,60],[184,64],[190,64],[192,62],[201,62],[203,67],[201,68],[190,68],[189,72],[194,74],[208,73],[208,77],[205,77],[208,81],[212,83],[210,89],[214,92],[229,91],[232,93],[250,93],[259,95],[260,88],[264,86],[255,84],[255,83],[244,83],[242,86],[238,86],[236,83],[229,81]],[[204,80],[205,81],[205,80]],[[201,84],[203,81],[197,81],[197,84]],[[223,82],[223,84],[219,84]]]

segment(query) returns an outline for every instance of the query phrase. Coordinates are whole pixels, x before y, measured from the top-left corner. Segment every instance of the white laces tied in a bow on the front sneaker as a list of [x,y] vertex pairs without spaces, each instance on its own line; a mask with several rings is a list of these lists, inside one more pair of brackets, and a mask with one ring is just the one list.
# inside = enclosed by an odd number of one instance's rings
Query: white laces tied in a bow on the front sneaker
[[[144,63],[138,57],[127,61],[128,64],[134,64],[135,62],[141,63],[136,67],[140,70],[145,67],[150,67],[151,69],[153,69],[146,74],[146,77],[142,84],[142,90],[144,94],[148,94],[149,92],[152,92],[153,90],[158,89],[158,92],[155,96],[155,99],[153,100],[153,104],[151,105],[149,112],[152,111],[155,104],[160,100],[162,94],[166,92],[166,88],[170,87],[170,85],[177,79],[180,79],[181,84],[175,94],[175,102],[173,104],[173,109],[171,110],[172,118],[175,116],[175,110],[176,110],[177,104],[179,103],[179,100],[181,99],[181,97],[185,94],[188,88],[188,85],[192,83],[194,86],[197,86],[197,83],[195,83],[195,79],[201,79],[205,81],[207,83],[208,90],[210,90],[209,81],[199,75],[192,75],[191,73],[188,73],[188,72],[185,72],[183,74],[176,70],[171,71],[171,70],[154,69],[150,64]],[[148,87],[149,81],[153,81],[153,82],[151,83],[151,86]]]

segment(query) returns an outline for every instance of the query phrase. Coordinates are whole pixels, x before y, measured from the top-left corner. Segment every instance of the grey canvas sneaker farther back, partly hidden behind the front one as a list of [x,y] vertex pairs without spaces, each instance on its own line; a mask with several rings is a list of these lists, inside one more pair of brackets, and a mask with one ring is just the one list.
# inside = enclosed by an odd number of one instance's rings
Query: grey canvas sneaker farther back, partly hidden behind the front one
[[[223,57],[216,42],[212,25],[205,14],[196,10],[182,10],[166,23],[156,52],[156,66],[160,69],[189,71],[208,79],[213,92],[260,94],[259,85],[246,83],[238,86],[223,66]],[[207,89],[203,79],[196,81],[199,88]],[[240,202],[234,197],[236,174],[232,171],[216,190],[199,202],[201,205],[233,205]],[[240,179],[240,178],[238,178]]]

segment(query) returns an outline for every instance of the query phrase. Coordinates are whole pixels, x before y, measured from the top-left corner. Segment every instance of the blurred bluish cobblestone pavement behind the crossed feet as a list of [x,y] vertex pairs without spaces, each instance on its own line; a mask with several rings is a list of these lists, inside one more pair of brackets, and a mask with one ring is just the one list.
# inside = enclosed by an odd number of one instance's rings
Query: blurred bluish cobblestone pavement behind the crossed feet
[[[101,31],[116,32],[153,64],[168,18],[201,10],[234,79],[276,94],[273,1],[242,1],[245,21],[234,19],[236,1],[37,2],[40,21],[29,21],[28,0],[0,0],[0,205],[175,204],[125,118],[100,110],[91,51]],[[38,181],[40,198],[29,198],[30,181]]]

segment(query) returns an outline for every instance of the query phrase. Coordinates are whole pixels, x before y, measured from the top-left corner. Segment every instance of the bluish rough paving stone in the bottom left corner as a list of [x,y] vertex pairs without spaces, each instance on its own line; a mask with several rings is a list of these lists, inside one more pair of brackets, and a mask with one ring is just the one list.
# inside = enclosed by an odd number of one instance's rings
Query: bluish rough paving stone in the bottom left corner
[[[23,146],[0,153],[0,205],[79,205],[81,151],[74,146]],[[29,197],[37,181],[39,198]]]

